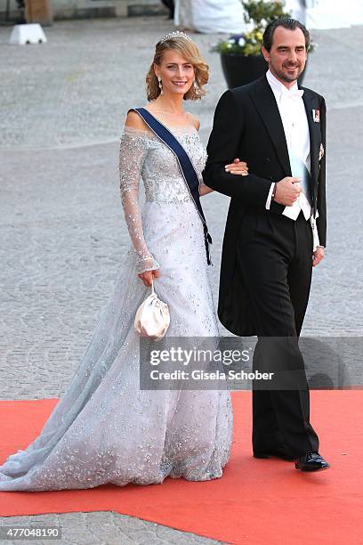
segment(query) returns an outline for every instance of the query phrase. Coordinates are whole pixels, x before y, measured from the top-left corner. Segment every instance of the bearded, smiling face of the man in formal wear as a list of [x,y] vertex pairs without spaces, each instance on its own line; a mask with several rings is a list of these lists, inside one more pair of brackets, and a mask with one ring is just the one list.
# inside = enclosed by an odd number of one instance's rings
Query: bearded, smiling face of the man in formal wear
[[308,57],[303,30],[276,28],[270,52],[262,47],[262,54],[275,77],[286,84],[294,83],[303,72]]

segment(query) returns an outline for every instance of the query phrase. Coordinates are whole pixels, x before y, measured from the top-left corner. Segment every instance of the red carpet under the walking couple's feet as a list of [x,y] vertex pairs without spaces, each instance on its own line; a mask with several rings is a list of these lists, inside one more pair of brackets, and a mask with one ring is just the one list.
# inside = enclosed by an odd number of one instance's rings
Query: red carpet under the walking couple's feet
[[[230,543],[363,542],[363,392],[311,392],[311,421],[332,468],[310,475],[251,456],[248,392],[234,392],[235,442],[221,479],[150,486],[0,492],[0,516],[116,511]],[[57,400],[0,402],[0,461],[28,446]]]

